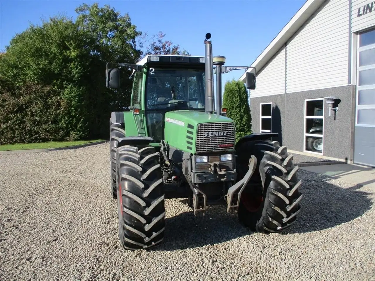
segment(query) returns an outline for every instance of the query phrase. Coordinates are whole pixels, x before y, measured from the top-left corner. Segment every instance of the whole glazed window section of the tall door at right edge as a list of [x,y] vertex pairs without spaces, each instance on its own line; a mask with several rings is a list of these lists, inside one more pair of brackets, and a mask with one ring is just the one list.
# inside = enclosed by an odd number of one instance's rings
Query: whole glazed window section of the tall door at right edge
[[357,38],[356,126],[375,127],[375,29]]

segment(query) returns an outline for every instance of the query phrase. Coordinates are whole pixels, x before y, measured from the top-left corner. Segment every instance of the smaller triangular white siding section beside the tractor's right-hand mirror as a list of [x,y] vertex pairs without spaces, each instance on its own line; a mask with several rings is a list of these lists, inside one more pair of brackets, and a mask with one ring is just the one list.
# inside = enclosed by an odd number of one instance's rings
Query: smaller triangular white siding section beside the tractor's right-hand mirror
[[[258,70],[259,72],[259,70]],[[257,75],[257,87],[251,90],[250,97],[263,97],[285,92],[285,48],[263,67]]]

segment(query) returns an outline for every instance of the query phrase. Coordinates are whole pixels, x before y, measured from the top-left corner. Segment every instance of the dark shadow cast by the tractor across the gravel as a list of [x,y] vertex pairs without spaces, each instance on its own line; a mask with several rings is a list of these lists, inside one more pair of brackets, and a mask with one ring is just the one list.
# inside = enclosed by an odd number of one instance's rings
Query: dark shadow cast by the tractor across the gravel
[[[302,210],[290,228],[276,235],[324,230],[360,217],[371,208],[370,193],[329,184],[324,176],[300,170],[303,180]],[[181,202],[185,203],[184,200]],[[227,214],[225,206],[208,208],[204,216],[183,212],[166,218],[165,238],[155,251],[171,251],[214,245],[252,234],[243,227],[237,214]]]

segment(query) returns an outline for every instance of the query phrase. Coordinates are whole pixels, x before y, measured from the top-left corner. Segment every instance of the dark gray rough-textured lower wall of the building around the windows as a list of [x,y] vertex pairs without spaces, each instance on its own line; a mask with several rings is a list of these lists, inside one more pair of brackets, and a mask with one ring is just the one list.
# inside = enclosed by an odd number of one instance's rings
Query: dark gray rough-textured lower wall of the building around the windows
[[[303,151],[303,130],[305,99],[335,96],[341,99],[339,110],[331,111],[324,101],[324,147],[323,155],[348,160],[351,159],[351,138],[354,118],[351,85],[329,89],[303,91],[250,99],[252,131],[260,133],[260,103],[272,102],[272,132],[279,133],[279,141],[288,149]],[[276,141],[276,139],[273,139]]]

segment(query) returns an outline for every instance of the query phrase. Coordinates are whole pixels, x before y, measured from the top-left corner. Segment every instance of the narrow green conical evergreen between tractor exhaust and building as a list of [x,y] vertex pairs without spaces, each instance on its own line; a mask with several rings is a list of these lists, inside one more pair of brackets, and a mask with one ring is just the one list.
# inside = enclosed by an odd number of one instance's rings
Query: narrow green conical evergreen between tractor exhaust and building
[[248,100],[248,91],[241,81],[233,79],[225,83],[223,108],[227,110],[226,116],[236,124],[236,142],[243,136],[252,133]]

